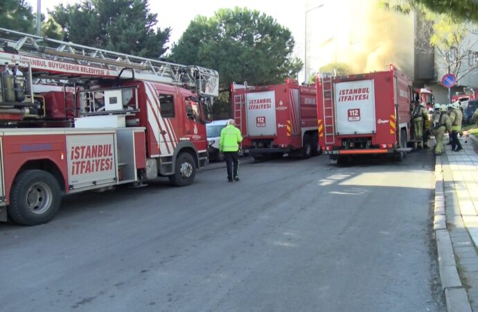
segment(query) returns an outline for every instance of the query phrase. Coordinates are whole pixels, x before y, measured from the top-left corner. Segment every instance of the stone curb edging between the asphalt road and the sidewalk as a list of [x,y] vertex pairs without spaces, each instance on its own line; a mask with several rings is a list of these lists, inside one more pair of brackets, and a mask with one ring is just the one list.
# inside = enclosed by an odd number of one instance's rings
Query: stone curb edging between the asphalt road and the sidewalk
[[438,250],[441,288],[445,293],[448,312],[472,312],[468,294],[461,284],[450,232],[446,224],[446,205],[443,193],[443,166],[441,156],[435,157],[435,207],[433,229]]

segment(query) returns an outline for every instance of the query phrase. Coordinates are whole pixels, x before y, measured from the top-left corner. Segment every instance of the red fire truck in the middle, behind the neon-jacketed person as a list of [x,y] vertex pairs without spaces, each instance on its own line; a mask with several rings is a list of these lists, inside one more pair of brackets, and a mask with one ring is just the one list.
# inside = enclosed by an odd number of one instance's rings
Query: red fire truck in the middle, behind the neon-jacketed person
[[242,132],[242,151],[254,158],[320,151],[317,139],[315,87],[287,78],[282,85],[233,84],[232,110]]

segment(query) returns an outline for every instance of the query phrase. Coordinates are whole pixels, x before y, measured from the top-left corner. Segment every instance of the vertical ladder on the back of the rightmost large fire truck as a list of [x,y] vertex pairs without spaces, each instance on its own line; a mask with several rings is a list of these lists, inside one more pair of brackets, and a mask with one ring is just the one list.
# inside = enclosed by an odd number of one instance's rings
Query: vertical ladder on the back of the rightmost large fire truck
[[335,144],[335,112],[332,73],[321,73],[321,83],[324,105],[324,140],[325,144]]

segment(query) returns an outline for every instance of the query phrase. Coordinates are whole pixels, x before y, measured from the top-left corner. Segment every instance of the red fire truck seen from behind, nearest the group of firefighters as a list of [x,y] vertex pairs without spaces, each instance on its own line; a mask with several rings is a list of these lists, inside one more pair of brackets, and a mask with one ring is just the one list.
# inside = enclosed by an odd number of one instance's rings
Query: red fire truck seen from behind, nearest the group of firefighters
[[390,65],[343,77],[317,76],[319,144],[330,159],[389,154],[405,157],[410,138],[411,80]]

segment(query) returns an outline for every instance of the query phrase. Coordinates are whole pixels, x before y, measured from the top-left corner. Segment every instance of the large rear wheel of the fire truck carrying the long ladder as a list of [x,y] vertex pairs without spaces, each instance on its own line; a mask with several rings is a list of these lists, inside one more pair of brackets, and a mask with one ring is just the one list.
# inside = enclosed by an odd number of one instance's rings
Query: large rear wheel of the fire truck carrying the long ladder
[[19,173],[10,191],[8,217],[21,225],[46,223],[60,208],[61,191],[57,180],[43,170]]

